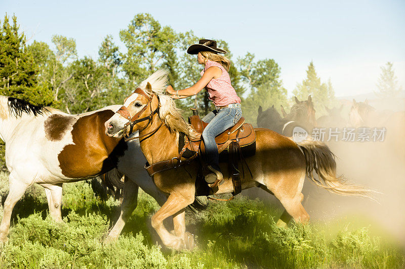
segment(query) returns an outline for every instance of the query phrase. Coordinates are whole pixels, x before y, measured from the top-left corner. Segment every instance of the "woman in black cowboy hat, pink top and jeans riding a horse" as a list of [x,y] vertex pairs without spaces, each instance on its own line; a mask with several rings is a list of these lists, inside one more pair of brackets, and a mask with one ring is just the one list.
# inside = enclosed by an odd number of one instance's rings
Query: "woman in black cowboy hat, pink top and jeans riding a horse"
[[230,61],[218,53],[227,53],[217,48],[217,42],[209,39],[201,39],[198,44],[191,45],[187,53],[197,55],[198,64],[204,65],[201,71],[201,78],[193,86],[183,90],[173,90],[172,86],[167,92],[173,94],[173,99],[181,99],[193,96],[206,88],[210,100],[214,102],[215,110],[203,118],[208,123],[203,132],[204,144],[206,147],[206,162],[208,169],[213,172],[205,176],[210,187],[217,179],[221,183],[223,175],[219,167],[218,147],[215,137],[225,130],[234,126],[241,118],[240,98],[231,85],[228,74]]

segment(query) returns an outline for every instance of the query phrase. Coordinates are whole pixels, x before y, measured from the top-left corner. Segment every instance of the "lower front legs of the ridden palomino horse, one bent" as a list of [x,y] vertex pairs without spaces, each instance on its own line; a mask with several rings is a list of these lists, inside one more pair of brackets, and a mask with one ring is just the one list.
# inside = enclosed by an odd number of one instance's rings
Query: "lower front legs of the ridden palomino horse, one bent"
[[[183,196],[177,193],[172,193],[169,195],[166,203],[152,216],[152,227],[155,229],[165,246],[171,247],[175,250],[180,250],[181,248],[186,247],[184,241],[184,208],[193,201],[194,195]],[[176,214],[174,217],[174,220],[176,220],[174,221],[175,234],[179,234],[180,236],[183,235],[183,237],[172,235],[163,225],[163,221],[174,214]]]

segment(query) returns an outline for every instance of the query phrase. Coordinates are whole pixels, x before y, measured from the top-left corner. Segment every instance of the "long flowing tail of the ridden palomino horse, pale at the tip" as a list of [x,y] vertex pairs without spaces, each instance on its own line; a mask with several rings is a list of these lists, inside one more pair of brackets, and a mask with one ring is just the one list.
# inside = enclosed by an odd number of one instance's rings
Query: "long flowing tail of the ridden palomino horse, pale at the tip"
[[[372,193],[376,193],[376,191],[348,183],[343,176],[336,176],[336,156],[328,145],[313,140],[303,140],[297,145],[305,156],[306,174],[317,186],[339,195],[362,196],[375,200]],[[314,178],[313,170],[323,183]]]

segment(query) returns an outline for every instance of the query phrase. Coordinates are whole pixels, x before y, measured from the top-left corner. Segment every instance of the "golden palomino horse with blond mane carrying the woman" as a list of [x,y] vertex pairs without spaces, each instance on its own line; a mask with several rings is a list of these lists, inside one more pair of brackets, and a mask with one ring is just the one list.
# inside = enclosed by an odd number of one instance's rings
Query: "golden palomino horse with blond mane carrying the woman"
[[[172,98],[163,94],[166,84],[167,71],[155,72],[125,100],[120,113],[105,123],[105,132],[112,137],[126,134],[130,126],[133,130],[139,130],[139,137],[142,137],[141,149],[149,164],[178,157],[179,132],[190,137],[197,136],[182,118]],[[256,155],[245,159],[253,178],[250,175],[242,177],[242,189],[260,187],[274,194],[286,209],[284,216],[290,215],[296,222],[308,222],[308,213],[301,204],[305,175],[331,192],[342,195],[368,195],[366,189],[348,185],[342,177],[336,177],[334,155],[325,144],[303,141],[297,145],[291,139],[268,129],[258,128],[255,132]],[[221,169],[224,182],[217,193],[232,192],[233,185],[227,164],[221,164]],[[151,224],[163,244],[174,249],[187,247],[184,243],[184,208],[198,195],[195,193],[198,170],[199,162],[194,159],[180,168],[159,172],[153,176],[154,183],[168,195],[168,200],[152,216]],[[323,184],[314,179],[313,170],[323,180]],[[163,221],[170,216],[174,216],[174,234],[163,225]],[[277,224],[286,225],[283,219]]]

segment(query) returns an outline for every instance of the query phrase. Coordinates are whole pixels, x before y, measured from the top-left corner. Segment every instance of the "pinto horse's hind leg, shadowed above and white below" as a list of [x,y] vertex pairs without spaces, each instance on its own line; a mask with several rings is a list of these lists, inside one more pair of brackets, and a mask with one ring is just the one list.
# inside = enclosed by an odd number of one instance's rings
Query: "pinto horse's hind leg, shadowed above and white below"
[[108,236],[104,241],[106,243],[118,239],[119,234],[124,229],[128,217],[131,216],[138,204],[139,187],[132,180],[128,179],[127,176],[125,177],[124,197],[123,202],[121,203],[121,213],[114,227],[112,227],[111,231],[108,233]]

